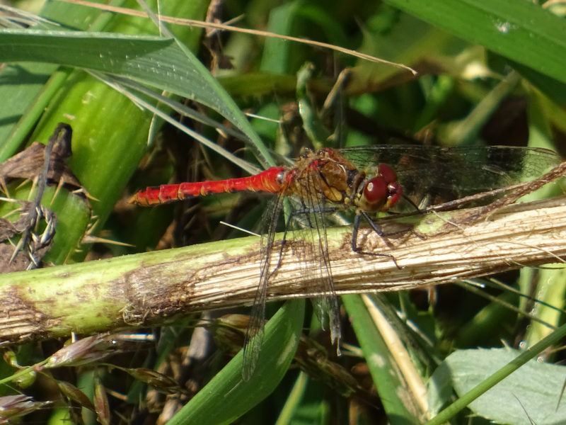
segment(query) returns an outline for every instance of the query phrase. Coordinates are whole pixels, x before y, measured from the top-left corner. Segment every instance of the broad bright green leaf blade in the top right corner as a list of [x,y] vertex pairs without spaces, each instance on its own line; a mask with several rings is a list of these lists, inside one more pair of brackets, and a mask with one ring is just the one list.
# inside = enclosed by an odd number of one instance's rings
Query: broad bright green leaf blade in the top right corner
[[566,83],[564,20],[531,1],[385,0],[464,40]]

